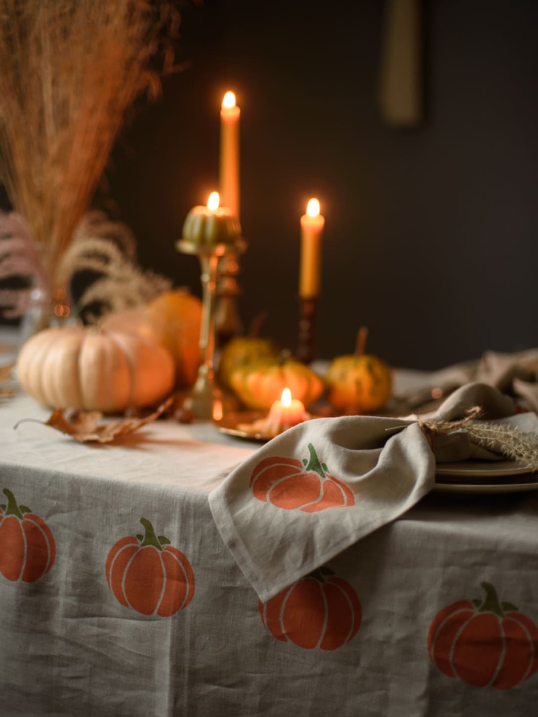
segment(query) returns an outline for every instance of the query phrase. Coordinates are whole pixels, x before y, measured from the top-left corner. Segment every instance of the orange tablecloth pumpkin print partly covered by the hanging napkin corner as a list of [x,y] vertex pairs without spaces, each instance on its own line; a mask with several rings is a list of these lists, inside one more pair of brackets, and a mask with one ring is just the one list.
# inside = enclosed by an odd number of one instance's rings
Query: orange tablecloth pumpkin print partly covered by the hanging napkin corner
[[273,637],[305,650],[336,650],[357,635],[362,620],[357,593],[327,568],[313,571],[265,604],[260,600],[258,607]]

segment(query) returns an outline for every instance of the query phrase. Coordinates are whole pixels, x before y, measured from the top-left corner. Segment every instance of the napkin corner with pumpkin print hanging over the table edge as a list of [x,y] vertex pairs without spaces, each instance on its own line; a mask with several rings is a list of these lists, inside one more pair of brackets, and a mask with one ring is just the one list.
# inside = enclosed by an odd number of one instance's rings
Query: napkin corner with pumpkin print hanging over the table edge
[[314,419],[237,467],[209,495],[209,507],[265,602],[401,516],[431,490],[434,477],[433,453],[414,422]]

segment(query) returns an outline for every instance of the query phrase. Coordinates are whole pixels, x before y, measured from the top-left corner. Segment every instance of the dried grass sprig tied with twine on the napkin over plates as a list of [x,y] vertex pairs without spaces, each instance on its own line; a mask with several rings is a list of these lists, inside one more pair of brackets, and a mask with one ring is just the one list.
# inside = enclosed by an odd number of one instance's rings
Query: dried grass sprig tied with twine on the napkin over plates
[[420,428],[431,442],[435,435],[466,432],[472,443],[487,448],[494,453],[504,455],[528,465],[532,473],[538,471],[538,435],[522,431],[507,423],[476,420],[481,408],[469,409],[460,421],[419,421]]

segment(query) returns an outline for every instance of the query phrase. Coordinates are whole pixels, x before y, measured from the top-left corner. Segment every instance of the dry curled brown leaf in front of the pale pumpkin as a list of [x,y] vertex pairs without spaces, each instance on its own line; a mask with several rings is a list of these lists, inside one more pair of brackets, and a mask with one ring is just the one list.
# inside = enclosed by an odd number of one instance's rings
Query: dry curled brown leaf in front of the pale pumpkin
[[169,408],[173,398],[169,397],[153,413],[143,418],[122,418],[119,421],[110,421],[98,425],[103,417],[99,411],[78,411],[72,417],[66,416],[62,409],[52,412],[47,421],[39,421],[35,418],[22,418],[16,422],[14,428],[24,422],[42,423],[70,435],[79,443],[110,443],[120,436],[136,431],[148,423],[154,422]]

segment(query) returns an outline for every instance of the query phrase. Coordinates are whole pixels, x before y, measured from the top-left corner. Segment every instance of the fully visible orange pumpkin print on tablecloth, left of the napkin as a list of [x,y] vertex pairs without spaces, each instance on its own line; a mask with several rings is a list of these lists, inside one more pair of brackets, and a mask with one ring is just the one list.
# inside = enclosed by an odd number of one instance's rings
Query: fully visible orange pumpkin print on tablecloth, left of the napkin
[[143,615],[170,617],[192,602],[194,573],[181,551],[141,518],[146,534],[126,536],[106,559],[108,587],[116,599]]

